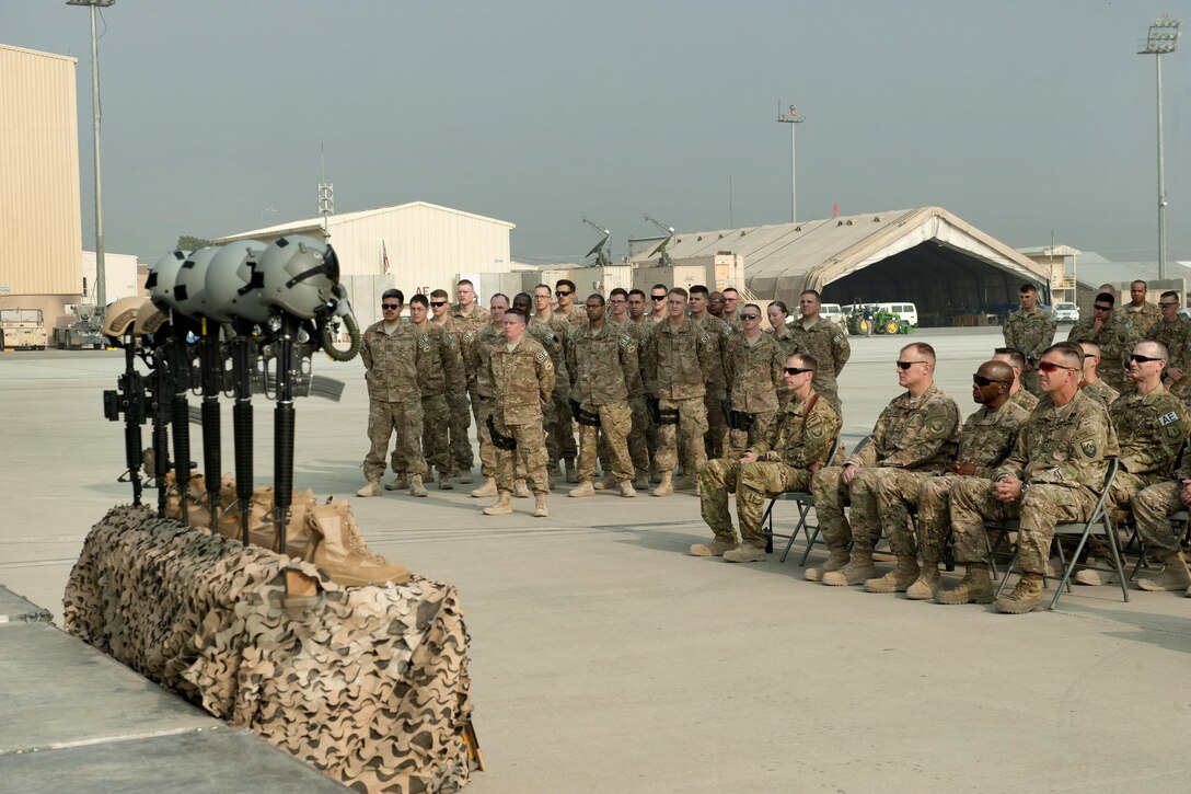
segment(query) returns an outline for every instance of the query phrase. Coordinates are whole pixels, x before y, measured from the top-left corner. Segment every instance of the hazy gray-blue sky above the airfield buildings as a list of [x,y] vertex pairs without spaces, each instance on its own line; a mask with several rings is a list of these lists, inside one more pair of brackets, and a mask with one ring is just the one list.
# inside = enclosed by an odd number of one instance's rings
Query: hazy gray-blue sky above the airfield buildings
[[[1156,258],[1154,57],[1191,0],[399,2],[117,0],[100,46],[107,249],[156,259],[317,210],[426,200],[576,261],[654,231],[947,207],[1016,246]],[[1186,30],[1184,31],[1187,32]],[[1164,56],[1167,256],[1191,260],[1191,36]],[[86,8],[0,0],[0,42],[79,58]],[[270,211],[270,210],[275,210]]]

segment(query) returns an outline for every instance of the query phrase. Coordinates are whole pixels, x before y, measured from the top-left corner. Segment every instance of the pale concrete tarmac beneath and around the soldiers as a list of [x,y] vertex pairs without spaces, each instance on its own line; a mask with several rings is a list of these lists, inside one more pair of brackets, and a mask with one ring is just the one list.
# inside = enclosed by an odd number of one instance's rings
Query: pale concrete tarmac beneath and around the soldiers
[[[898,393],[903,343],[935,346],[937,383],[966,416],[971,374],[1000,340],[999,328],[854,337],[840,379],[847,443]],[[110,352],[0,355],[0,584],[55,620],[88,529],[131,500],[116,482],[123,428],[104,420],[100,396],[123,366]],[[314,372],[347,387],[338,403],[298,402],[294,482],[351,495],[367,452],[363,368],[318,355]],[[255,404],[257,482],[268,483],[273,410]],[[224,428],[231,471],[230,404]],[[201,460],[198,426],[192,449]],[[350,498],[374,551],[459,588],[488,767],[473,794],[1191,784],[1191,600],[1180,595],[1130,590],[1123,603],[1117,587],[1081,587],[1053,613],[1019,616],[910,602],[805,582],[798,554],[688,557],[710,536],[691,494],[572,500],[563,488],[549,519],[531,517],[532,500],[487,517],[490,501],[469,488]],[[779,503],[777,517],[788,529],[793,505]]]

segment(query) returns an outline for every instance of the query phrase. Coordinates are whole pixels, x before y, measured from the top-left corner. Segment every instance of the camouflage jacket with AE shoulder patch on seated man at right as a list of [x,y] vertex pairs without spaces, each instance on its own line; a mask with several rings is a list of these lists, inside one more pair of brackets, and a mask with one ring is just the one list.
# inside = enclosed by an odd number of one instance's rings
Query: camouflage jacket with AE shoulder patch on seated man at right
[[1159,385],[1145,396],[1122,395],[1109,407],[1109,418],[1121,447],[1110,497],[1123,509],[1142,489],[1174,476],[1191,417],[1183,402]]

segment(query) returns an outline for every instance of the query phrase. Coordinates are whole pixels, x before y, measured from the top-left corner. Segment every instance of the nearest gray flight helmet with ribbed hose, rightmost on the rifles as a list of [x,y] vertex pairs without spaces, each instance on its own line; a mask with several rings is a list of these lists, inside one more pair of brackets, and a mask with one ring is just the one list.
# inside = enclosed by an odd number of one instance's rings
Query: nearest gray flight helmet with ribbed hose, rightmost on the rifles
[[260,269],[264,305],[303,320],[335,310],[339,260],[325,242],[301,235],[282,237],[261,254]]

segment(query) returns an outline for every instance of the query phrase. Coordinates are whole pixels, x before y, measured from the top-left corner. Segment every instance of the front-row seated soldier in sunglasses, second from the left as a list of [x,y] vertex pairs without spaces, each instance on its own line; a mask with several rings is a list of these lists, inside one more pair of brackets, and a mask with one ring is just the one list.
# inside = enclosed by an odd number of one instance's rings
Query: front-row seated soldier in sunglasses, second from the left
[[[881,535],[877,483],[897,473],[902,492],[912,489],[916,494],[923,479],[937,474],[954,459],[960,410],[954,399],[935,387],[934,373],[935,348],[924,342],[903,347],[897,379],[906,393],[894,397],[881,411],[868,443],[853,452],[843,466],[829,466],[815,478],[815,509],[830,558],[822,567],[806,569],[811,582],[846,585],[875,578],[873,546]],[[852,505],[850,525],[843,517],[846,504]],[[912,571],[913,582],[918,577],[913,545],[893,552],[899,575]]]

